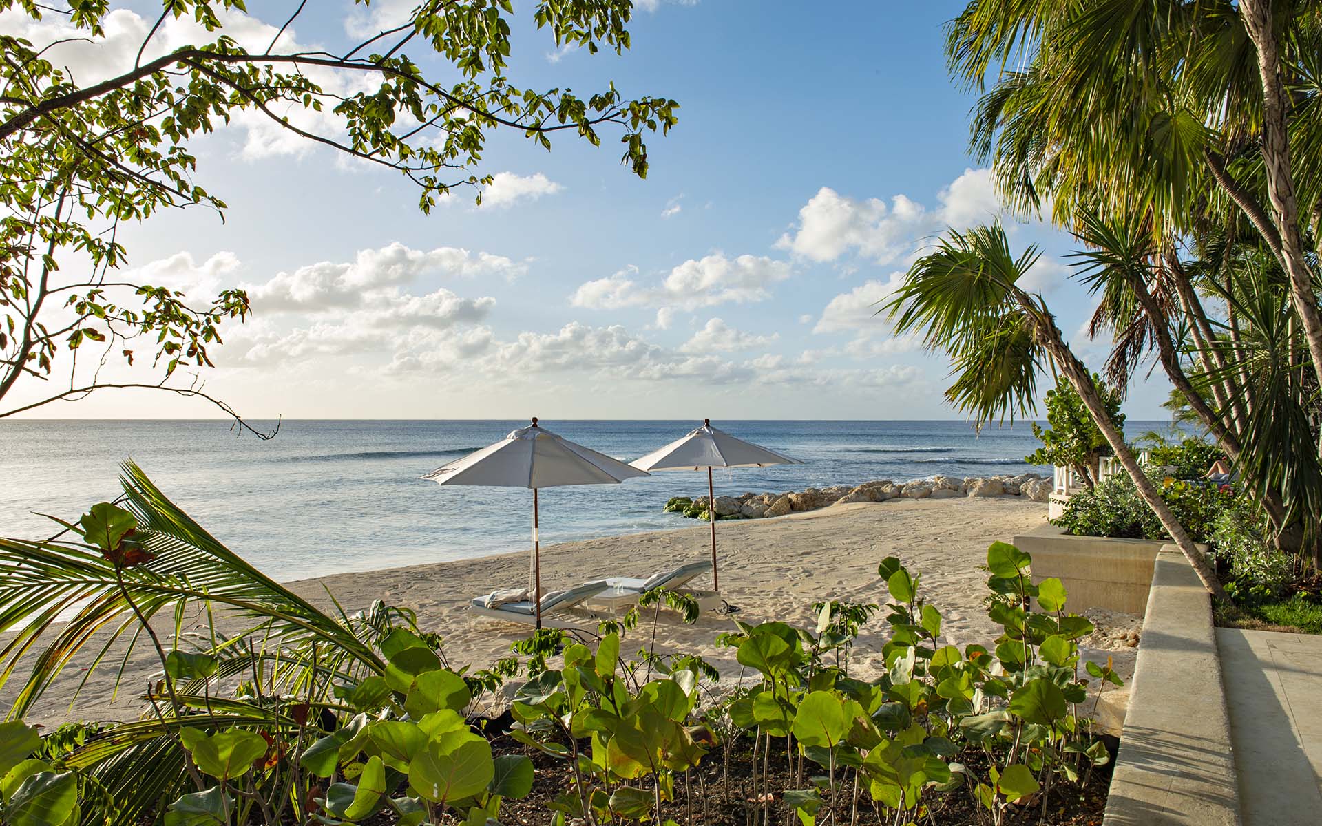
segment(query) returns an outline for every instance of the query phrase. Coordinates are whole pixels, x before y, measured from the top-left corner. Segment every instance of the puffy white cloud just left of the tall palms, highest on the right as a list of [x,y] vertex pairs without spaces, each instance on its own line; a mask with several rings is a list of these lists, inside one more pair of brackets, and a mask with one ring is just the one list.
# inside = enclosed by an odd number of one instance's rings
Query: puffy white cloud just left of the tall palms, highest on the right
[[986,169],[965,169],[941,189],[937,200],[937,209],[928,210],[903,194],[894,196],[887,205],[879,198],[859,201],[822,186],[798,210],[798,226],[781,235],[776,247],[816,262],[854,252],[887,264],[911,254],[925,235],[948,226],[964,229],[997,211]]

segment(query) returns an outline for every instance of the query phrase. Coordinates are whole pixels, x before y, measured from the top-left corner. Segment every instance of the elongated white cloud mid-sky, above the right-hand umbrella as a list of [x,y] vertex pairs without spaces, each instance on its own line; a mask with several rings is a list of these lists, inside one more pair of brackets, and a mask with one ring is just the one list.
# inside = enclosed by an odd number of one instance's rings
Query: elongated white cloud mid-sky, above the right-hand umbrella
[[691,311],[724,303],[744,304],[769,299],[768,288],[788,279],[789,274],[785,262],[755,255],[726,258],[714,252],[674,267],[654,287],[640,284],[637,267],[627,267],[609,278],[580,284],[570,301],[591,309],[678,307]]

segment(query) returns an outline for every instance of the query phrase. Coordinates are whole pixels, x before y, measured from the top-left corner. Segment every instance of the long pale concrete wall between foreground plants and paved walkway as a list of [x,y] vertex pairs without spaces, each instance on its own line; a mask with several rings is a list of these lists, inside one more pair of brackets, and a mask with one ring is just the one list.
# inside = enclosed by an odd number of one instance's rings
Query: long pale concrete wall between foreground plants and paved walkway
[[1211,597],[1167,544],[1153,560],[1103,826],[1239,826],[1231,748]]

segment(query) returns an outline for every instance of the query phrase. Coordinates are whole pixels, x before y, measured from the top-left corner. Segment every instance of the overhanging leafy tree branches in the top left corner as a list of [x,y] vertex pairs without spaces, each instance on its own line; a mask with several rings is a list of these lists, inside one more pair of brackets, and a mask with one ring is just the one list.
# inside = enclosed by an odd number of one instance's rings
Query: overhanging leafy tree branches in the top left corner
[[[242,0],[164,3],[126,50],[107,36],[108,0],[0,3],[32,20],[65,15],[75,33],[37,45],[0,34],[0,418],[103,389],[148,389],[205,399],[246,427],[202,375],[225,324],[251,313],[247,293],[188,296],[120,275],[130,256],[122,227],[189,207],[223,219],[226,202],[197,181],[205,169],[193,144],[225,124],[255,123],[279,140],[398,172],[424,213],[465,192],[481,202],[498,130],[547,149],[562,135],[592,145],[616,135],[621,163],[646,176],[645,137],[674,126],[674,100],[629,99],[613,83],[582,96],[529,87],[508,74],[512,3],[414,5],[399,25],[327,52],[297,44],[291,28],[315,16],[338,25],[320,4],[299,3],[279,29],[254,33],[237,22]],[[539,0],[518,15],[557,46],[619,54],[632,11],[629,0]],[[196,40],[167,45],[165,29],[189,20],[182,36]],[[57,63],[58,48],[78,52],[89,71],[74,77]]]

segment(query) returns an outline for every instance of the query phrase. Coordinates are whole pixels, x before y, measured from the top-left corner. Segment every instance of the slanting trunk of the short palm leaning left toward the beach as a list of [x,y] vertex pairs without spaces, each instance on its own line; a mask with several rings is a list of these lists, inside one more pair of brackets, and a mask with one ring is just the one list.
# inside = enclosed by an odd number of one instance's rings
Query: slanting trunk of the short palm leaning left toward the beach
[[1121,467],[1129,473],[1129,477],[1134,480],[1134,486],[1138,489],[1138,496],[1144,497],[1147,506],[1153,509],[1157,518],[1161,521],[1162,527],[1170,534],[1171,541],[1175,546],[1185,554],[1188,559],[1188,564],[1194,567],[1198,574],[1198,579],[1203,583],[1212,596],[1224,597],[1225,591],[1222,588],[1222,583],[1216,579],[1216,572],[1207,564],[1203,558],[1202,551],[1194,544],[1185,526],[1179,523],[1175,514],[1171,513],[1170,507],[1166,506],[1165,500],[1161,498],[1161,493],[1157,486],[1151,484],[1147,474],[1144,473],[1142,468],[1138,467],[1138,459],[1134,452],[1129,449],[1125,444],[1125,437],[1116,424],[1107,415],[1107,406],[1103,403],[1101,396],[1097,394],[1096,385],[1092,383],[1092,373],[1084,366],[1079,357],[1073,354],[1069,345],[1064,342],[1060,336],[1060,328],[1055,325],[1050,316],[1046,316],[1042,308],[1034,307],[1029,300],[1027,295],[1019,296],[1019,303],[1029,312],[1029,316],[1034,320],[1034,328],[1038,334],[1039,342],[1051,354],[1052,361],[1060,367],[1069,385],[1079,394],[1083,400],[1084,407],[1092,415],[1093,422],[1097,424],[1097,430],[1101,435],[1107,437],[1107,444],[1116,453],[1116,459],[1120,460]]

